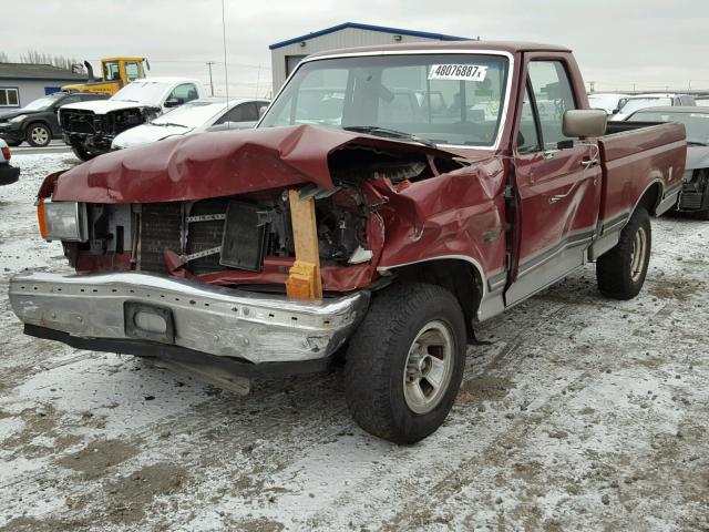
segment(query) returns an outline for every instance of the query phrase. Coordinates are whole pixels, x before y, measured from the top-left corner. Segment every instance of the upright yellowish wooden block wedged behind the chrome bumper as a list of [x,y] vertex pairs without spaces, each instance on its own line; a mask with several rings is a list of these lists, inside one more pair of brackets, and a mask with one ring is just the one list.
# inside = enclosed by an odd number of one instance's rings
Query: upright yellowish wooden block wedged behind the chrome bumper
[[299,191],[288,191],[296,262],[286,280],[286,294],[297,299],[322,299],[318,226],[315,200],[300,200]]

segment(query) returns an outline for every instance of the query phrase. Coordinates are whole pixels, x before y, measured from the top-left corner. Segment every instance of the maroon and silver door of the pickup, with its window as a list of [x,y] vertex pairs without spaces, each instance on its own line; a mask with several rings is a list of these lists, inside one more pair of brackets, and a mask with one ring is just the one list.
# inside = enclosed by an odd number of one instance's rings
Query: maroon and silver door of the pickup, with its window
[[578,106],[568,65],[559,59],[532,58],[523,79],[514,155],[518,238],[507,305],[584,263],[600,202],[597,146],[562,132],[564,112]]

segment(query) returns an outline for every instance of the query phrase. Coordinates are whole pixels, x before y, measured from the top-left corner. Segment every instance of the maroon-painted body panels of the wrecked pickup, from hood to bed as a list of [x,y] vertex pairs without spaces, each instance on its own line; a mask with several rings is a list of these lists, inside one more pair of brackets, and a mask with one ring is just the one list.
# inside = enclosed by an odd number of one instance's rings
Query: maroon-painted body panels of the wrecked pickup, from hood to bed
[[[448,152],[418,144],[359,135],[336,129],[292,126],[220,132],[162,141],[144,147],[97,157],[59,176],[49,176],[41,195],[56,181],[55,201],[88,203],[152,203],[204,200],[302,183],[329,188],[328,155],[346,145],[418,152],[464,162],[463,168],[392,187],[379,178],[360,184],[377,216],[368,224],[369,264],[323,266],[327,290],[347,291],[368,286],[377,267],[392,267],[443,256],[481,265],[484,274],[505,267],[513,252],[510,280],[518,260],[557,244],[569,233],[593,228],[600,219],[634,208],[640,195],[659,180],[662,190],[681,180],[685,161],[684,129],[666,124],[653,129],[589,140],[598,145],[602,166],[585,170],[584,158],[595,147],[578,145],[545,160],[541,153],[520,155],[517,127],[531,59],[558,60],[569,73],[579,108],[587,108],[578,66],[565,49],[538,44],[422,43],[392,50],[500,50],[514,58],[512,93],[496,152],[455,147]],[[382,51],[387,47],[376,47]],[[362,49],[360,51],[366,51]],[[672,167],[671,178],[669,168]],[[513,203],[504,190],[514,175]],[[552,196],[563,196],[549,203]],[[510,237],[505,238],[506,227]],[[174,257],[167,264],[186,275]],[[206,283],[285,282],[290,258],[267,257],[261,273],[228,270],[199,276]],[[96,266],[102,266],[96,264]],[[179,272],[183,272],[182,274]]]

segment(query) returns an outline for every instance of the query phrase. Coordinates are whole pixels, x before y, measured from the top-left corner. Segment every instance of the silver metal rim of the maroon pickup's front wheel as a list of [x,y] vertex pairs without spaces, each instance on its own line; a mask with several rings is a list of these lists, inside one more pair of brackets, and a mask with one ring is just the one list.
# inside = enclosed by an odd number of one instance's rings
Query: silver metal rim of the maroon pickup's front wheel
[[422,415],[440,402],[453,375],[453,334],[439,320],[425,324],[413,339],[404,365],[403,397]]

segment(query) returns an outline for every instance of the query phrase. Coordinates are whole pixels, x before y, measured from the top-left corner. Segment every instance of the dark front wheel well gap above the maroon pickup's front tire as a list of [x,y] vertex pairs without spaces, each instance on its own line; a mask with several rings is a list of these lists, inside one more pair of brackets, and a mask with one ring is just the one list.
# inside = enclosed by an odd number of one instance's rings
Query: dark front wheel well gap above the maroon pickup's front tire
[[463,310],[469,339],[474,339],[473,319],[486,293],[485,275],[477,262],[461,256],[432,257],[378,269],[401,280],[428,283],[448,289]]

